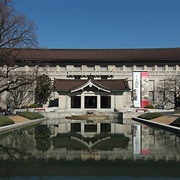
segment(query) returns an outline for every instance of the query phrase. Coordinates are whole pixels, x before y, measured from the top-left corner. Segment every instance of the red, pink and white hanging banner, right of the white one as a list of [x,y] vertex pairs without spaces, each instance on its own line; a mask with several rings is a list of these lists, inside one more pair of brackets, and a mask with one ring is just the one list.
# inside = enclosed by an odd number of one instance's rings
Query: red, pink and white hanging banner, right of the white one
[[141,107],[149,104],[149,73],[141,72]]

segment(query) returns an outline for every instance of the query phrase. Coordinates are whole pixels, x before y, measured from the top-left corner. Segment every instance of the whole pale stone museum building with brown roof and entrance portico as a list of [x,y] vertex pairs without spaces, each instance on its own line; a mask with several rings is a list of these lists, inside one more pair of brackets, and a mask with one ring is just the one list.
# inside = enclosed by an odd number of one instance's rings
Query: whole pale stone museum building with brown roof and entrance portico
[[47,106],[121,110],[134,105],[134,72],[148,73],[148,102],[155,103],[158,82],[180,74],[180,48],[20,49],[16,64],[21,71],[38,65],[52,79]]

